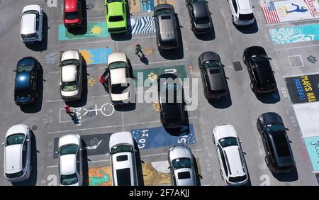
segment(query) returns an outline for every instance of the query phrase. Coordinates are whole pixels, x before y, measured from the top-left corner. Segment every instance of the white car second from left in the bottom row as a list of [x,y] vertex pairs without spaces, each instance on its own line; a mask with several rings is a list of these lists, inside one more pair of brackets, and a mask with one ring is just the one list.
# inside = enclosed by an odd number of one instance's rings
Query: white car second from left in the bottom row
[[81,186],[83,184],[82,143],[77,134],[64,135],[59,139],[59,184]]

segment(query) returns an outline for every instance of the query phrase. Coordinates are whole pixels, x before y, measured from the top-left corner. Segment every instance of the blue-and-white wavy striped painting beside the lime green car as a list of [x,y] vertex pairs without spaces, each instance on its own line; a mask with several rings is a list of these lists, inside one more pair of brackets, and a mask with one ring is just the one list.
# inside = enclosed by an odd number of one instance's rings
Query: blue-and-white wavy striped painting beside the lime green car
[[152,16],[130,18],[130,29],[128,34],[154,33],[155,21]]

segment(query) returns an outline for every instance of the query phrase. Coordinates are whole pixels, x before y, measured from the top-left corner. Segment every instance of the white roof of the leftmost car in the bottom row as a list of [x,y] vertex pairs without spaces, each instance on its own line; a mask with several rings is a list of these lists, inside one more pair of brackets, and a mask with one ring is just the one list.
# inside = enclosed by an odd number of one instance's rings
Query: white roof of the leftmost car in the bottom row
[[21,145],[6,146],[6,172],[15,173],[21,170]]

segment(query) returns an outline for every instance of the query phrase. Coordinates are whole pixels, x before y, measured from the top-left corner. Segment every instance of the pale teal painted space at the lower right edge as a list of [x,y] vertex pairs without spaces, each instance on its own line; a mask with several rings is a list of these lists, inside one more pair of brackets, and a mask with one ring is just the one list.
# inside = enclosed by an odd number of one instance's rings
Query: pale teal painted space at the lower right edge
[[319,172],[319,136],[305,138],[306,148],[308,151],[313,171]]

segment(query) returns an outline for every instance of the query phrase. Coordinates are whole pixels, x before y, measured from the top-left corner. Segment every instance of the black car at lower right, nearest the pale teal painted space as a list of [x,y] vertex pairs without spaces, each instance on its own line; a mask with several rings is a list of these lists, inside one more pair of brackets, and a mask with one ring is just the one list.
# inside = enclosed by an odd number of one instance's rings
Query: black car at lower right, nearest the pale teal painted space
[[281,116],[277,113],[263,113],[257,119],[257,129],[262,136],[266,151],[265,161],[274,173],[290,172],[295,169],[293,153]]

